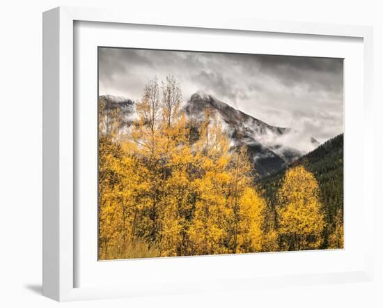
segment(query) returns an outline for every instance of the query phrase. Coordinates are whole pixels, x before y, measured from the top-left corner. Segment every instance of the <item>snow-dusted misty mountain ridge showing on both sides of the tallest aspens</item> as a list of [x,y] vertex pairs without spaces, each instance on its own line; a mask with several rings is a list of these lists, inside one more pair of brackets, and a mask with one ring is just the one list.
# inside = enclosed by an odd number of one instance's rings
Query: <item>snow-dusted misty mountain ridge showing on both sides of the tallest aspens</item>
[[[111,95],[101,96],[100,100],[104,102],[104,108],[120,108],[123,125],[132,124],[135,118],[133,100]],[[203,121],[203,111],[207,108],[217,113],[233,148],[247,146],[255,171],[261,177],[282,169],[319,146],[312,137],[305,137],[290,128],[269,125],[201,91],[194,93],[183,106],[185,114],[193,118],[192,123],[196,125]]]

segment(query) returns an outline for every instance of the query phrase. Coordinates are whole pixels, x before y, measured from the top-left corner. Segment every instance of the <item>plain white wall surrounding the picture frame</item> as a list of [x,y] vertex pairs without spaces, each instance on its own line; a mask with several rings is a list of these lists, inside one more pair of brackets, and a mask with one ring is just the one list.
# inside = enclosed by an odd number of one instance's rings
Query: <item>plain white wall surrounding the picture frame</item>
[[[383,10],[381,1],[98,1],[14,0],[0,10],[0,305],[56,307],[41,293],[41,130],[42,130],[42,11],[55,6],[116,6],[126,10],[171,9],[174,14],[247,16],[268,20],[298,20],[375,27],[375,133],[382,134]],[[125,3],[124,6],[122,3]],[[352,4],[351,4],[352,3]],[[375,146],[376,174],[382,174]],[[380,178],[375,175],[378,188]],[[379,201],[382,201],[380,198]],[[382,202],[375,203],[382,205]],[[67,307],[382,307],[382,209],[375,215],[377,264],[373,284],[343,284],[265,289],[253,293],[182,295],[175,297],[74,302]],[[379,235],[379,236],[378,236]],[[315,265],[314,265],[315,266]]]

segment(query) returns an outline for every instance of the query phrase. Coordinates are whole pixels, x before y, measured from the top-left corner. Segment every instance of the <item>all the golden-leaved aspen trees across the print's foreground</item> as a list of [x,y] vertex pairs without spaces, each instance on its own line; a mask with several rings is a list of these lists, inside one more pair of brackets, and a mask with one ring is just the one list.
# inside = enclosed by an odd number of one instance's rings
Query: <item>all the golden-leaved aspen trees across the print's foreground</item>
[[[230,147],[217,114],[189,119],[181,102],[173,77],[150,80],[127,128],[99,101],[99,258],[320,248],[325,218],[313,174],[289,169],[278,204],[267,206],[246,148]],[[336,230],[343,243],[343,226]]]

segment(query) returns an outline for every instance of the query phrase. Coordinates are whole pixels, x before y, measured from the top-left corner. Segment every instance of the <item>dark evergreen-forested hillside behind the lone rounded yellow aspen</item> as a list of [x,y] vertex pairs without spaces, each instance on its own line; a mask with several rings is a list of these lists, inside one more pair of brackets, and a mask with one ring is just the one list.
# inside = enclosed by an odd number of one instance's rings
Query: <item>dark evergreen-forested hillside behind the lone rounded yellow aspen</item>
[[[290,167],[303,165],[318,180],[320,199],[325,210],[327,228],[324,231],[325,247],[329,234],[336,229],[336,223],[343,224],[343,134],[329,139],[314,151],[299,158],[297,162],[281,171],[258,181],[265,192],[269,207],[276,204],[276,192],[281,180]],[[275,211],[275,210],[274,210]]]

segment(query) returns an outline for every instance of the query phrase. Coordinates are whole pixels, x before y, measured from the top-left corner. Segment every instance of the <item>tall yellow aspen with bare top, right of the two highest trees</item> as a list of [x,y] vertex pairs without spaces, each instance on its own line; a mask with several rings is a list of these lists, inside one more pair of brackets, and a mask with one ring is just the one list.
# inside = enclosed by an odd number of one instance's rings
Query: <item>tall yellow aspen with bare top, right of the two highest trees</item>
[[192,216],[193,185],[189,167],[193,155],[187,143],[187,118],[180,111],[182,93],[174,77],[162,84],[162,157],[164,190],[159,249],[162,256],[187,254],[187,230]]

